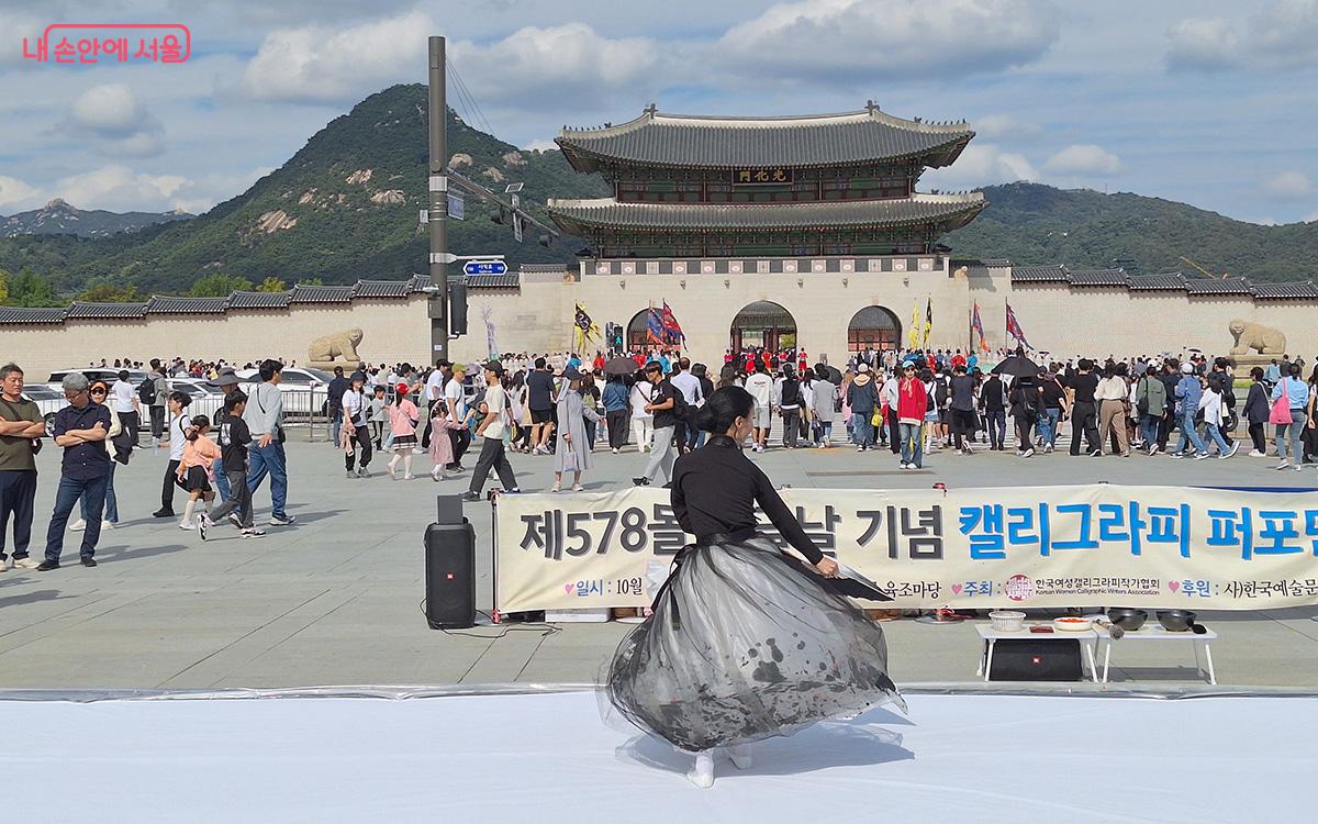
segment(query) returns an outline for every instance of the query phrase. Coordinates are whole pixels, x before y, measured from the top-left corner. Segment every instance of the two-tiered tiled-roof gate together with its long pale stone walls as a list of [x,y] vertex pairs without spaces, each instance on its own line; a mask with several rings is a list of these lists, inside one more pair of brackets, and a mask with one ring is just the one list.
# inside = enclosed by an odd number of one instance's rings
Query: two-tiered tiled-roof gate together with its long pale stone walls
[[[969,323],[977,305],[988,345],[1015,345],[1008,302],[1033,348],[1054,357],[1224,352],[1235,319],[1284,331],[1290,352],[1318,352],[1318,327],[1305,322],[1318,309],[1310,282],[956,257],[940,237],[991,204],[981,192],[916,189],[925,169],[950,166],[973,137],[966,123],[904,120],[873,103],[804,117],[651,105],[619,125],[564,129],[556,142],[568,162],[613,187],[610,198],[548,202],[590,256],[469,277],[471,331],[451,355],[478,361],[492,338],[498,351],[571,349],[579,303],[601,328],[618,323],[629,344],[643,345],[647,310],[663,302],[687,348],[713,363],[728,347],[792,344],[841,363],[849,351],[903,345],[912,307],[927,305],[932,348],[978,344]],[[0,328],[4,357],[34,372],[120,353],[303,363],[308,341],[348,328],[362,330],[368,361],[424,363],[428,285],[424,276],[366,278],[227,298],[0,307]]]

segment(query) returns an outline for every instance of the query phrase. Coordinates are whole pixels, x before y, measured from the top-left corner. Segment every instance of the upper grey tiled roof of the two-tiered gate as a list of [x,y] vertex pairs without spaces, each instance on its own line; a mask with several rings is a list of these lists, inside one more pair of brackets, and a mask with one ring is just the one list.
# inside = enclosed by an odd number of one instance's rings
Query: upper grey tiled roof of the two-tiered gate
[[668,115],[650,107],[635,120],[594,129],[564,128],[554,142],[579,171],[602,163],[672,169],[800,169],[879,160],[957,160],[975,133],[965,121],[904,120],[870,105],[803,117]]

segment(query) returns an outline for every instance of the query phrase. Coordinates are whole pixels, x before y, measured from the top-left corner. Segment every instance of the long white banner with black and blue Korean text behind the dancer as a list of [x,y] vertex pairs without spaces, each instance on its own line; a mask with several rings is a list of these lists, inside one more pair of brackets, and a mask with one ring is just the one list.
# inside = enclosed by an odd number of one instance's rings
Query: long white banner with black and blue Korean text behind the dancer
[[[1318,604],[1318,492],[1185,486],[783,489],[899,608]],[[760,515],[763,533],[789,550]],[[496,608],[648,605],[692,541],[662,489],[501,496]]]

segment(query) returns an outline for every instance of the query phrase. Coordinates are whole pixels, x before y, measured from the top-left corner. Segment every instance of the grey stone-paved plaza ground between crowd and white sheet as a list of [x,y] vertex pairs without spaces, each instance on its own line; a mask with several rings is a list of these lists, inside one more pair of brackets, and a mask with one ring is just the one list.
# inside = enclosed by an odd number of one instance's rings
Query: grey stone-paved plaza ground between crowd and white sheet
[[[323,438],[323,431],[318,432]],[[289,443],[290,505],[298,523],[241,541],[220,527],[202,542],[150,513],[159,505],[165,451],[137,452],[116,476],[123,523],[101,535],[95,570],[76,563],[70,533],[61,570],[0,576],[0,687],[223,688],[331,684],[492,684],[592,682],[626,624],[488,626],[465,633],[427,628],[422,534],[435,494],[461,492],[467,476],[435,484],[418,459],[415,481],[347,480],[327,443]],[[49,519],[58,450],[40,456],[33,556]],[[597,454],[588,489],[629,483],[642,467],[631,447]],[[1318,471],[1280,473],[1271,459],[1173,461],[1166,457],[1082,459],[1062,454],[938,452],[921,472],[902,472],[887,451],[858,455],[772,450],[755,460],[778,484],[832,488],[950,488],[1112,481],[1235,486],[1318,486]],[[473,463],[469,457],[468,464]],[[526,490],[551,483],[548,457],[513,456]],[[269,514],[269,489],[256,496]],[[182,512],[182,494],[175,502]],[[468,506],[478,535],[480,604],[490,606],[490,510]],[[1201,613],[1215,629],[1218,679],[1230,686],[1318,687],[1318,609]],[[884,625],[898,683],[970,682],[978,655],[973,626]],[[1116,683],[1190,686],[1194,659],[1141,645],[1123,650]]]

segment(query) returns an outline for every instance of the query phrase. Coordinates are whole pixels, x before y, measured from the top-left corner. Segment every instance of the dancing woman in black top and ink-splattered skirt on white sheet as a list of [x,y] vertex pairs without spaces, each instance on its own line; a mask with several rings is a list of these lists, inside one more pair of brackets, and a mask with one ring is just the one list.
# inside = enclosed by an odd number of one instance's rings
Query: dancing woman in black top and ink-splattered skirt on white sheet
[[[696,417],[713,436],[677,459],[672,481],[673,510],[696,543],[677,555],[654,614],[618,646],[605,690],[634,724],[696,753],[689,777],[709,787],[717,748],[746,769],[753,741],[905,704],[886,672],[883,630],[829,589],[837,563],[742,455],[754,398],[728,386]],[[813,566],[757,534],[757,502]]]

